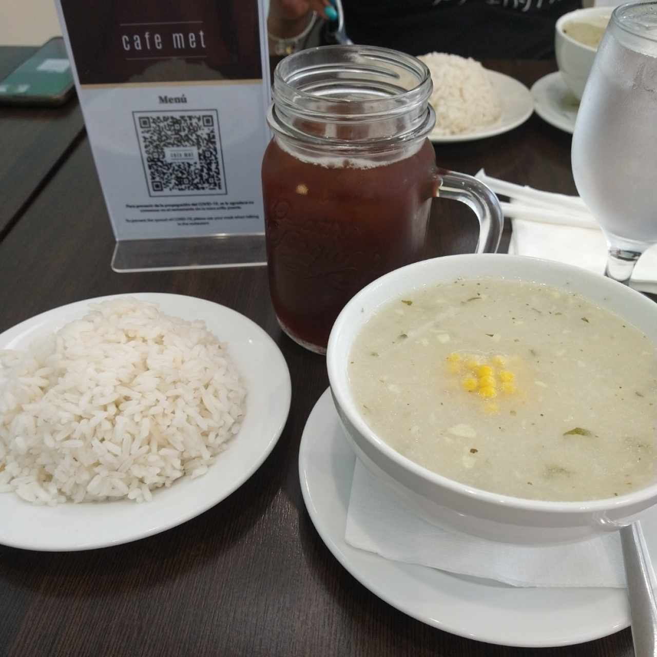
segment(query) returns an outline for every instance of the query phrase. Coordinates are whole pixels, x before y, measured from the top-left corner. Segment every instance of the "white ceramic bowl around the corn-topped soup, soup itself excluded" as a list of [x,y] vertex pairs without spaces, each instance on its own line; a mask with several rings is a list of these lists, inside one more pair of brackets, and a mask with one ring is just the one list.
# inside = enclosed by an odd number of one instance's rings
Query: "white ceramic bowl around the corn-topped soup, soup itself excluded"
[[583,294],[624,317],[657,342],[657,304],[610,279],[547,260],[507,255],[463,255],[425,260],[377,279],[356,294],[328,340],[328,379],[340,422],[357,457],[396,488],[413,509],[452,532],[495,541],[549,544],[617,530],[657,503],[657,484],[620,497],[545,502],[497,495],[450,480],[403,457],[367,426],[351,396],[348,362],[361,327],[382,305],[426,285],[458,277],[534,281]]

